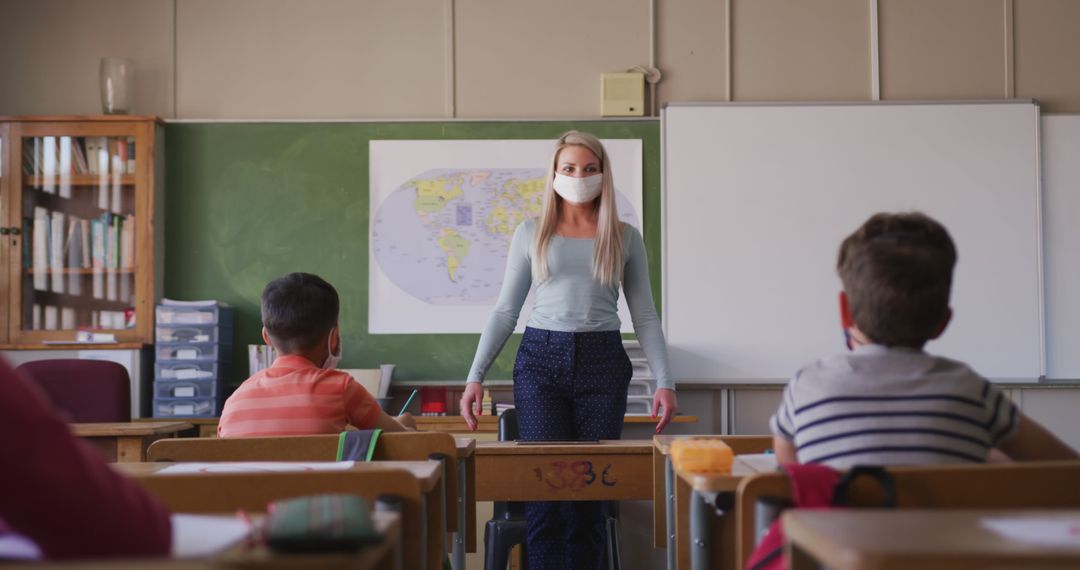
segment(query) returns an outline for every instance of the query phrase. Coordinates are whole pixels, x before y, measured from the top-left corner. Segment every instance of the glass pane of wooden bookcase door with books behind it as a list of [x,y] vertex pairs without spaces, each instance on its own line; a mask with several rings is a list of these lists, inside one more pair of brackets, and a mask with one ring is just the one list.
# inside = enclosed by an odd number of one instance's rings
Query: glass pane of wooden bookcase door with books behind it
[[[123,125],[19,132],[23,236],[13,341],[134,338],[139,152]],[[62,134],[63,133],[63,134]],[[14,268],[13,268],[14,269]]]

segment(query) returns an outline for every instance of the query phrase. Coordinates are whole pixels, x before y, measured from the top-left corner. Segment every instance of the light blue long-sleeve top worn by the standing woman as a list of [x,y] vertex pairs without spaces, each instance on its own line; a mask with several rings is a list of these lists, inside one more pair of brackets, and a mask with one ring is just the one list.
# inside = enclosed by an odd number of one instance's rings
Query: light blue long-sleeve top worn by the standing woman
[[[536,221],[526,220],[514,231],[507,256],[507,274],[495,311],[488,318],[480,345],[469,370],[468,381],[481,382],[491,362],[502,351],[507,339],[517,326],[522,306],[534,286],[532,241]],[[619,286],[604,286],[593,276],[592,238],[553,235],[548,246],[549,277],[536,283],[532,315],[528,326],[565,332],[619,330]],[[626,295],[634,332],[637,335],[649,367],[657,378],[657,388],[674,389],[667,365],[667,344],[660,327],[657,308],[652,303],[649,284],[649,261],[640,232],[623,225],[622,289]]]

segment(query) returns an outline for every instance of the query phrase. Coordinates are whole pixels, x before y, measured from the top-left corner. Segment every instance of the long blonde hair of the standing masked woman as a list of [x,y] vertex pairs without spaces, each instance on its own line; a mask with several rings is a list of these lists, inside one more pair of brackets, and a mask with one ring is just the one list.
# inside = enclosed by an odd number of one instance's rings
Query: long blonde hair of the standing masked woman
[[593,201],[597,212],[596,241],[593,245],[593,276],[603,285],[617,286],[622,282],[622,222],[615,202],[615,182],[611,178],[611,160],[599,139],[589,133],[570,131],[558,137],[555,151],[548,163],[548,179],[544,182],[543,212],[537,223],[536,240],[532,242],[532,277],[542,282],[550,276],[548,270],[548,246],[558,228],[558,217],[563,198],[552,182],[558,153],[566,147],[579,146],[592,151],[600,160],[600,195]]

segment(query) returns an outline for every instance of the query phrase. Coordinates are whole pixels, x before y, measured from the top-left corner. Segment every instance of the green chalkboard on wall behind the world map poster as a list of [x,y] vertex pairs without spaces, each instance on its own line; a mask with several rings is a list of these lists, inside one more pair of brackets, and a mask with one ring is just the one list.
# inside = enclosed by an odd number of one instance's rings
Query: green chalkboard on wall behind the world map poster
[[[394,363],[397,379],[463,380],[478,335],[367,331],[367,144],[555,139],[571,128],[642,139],[645,244],[659,300],[660,124],[654,120],[171,123],[165,131],[165,296],[219,299],[235,308],[234,382],[247,375],[246,345],[261,343],[262,287],[292,271],[318,273],[338,289],[342,367]],[[510,378],[516,337],[488,378]]]

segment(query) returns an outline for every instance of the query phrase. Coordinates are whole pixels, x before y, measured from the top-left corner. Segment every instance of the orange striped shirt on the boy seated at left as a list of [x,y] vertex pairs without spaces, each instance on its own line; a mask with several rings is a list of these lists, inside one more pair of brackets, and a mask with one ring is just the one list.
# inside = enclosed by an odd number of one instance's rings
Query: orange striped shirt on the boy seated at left
[[288,354],[248,378],[229,396],[217,424],[220,437],[340,433],[375,425],[382,410],[364,386],[341,370],[323,370]]

